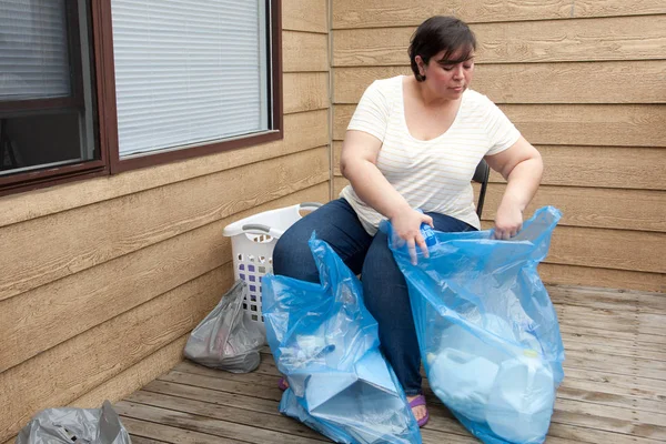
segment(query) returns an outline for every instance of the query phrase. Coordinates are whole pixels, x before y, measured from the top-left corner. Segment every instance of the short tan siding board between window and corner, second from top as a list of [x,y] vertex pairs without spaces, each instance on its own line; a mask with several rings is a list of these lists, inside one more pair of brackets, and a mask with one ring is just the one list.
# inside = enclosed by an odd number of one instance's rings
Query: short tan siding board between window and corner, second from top
[[282,31],[282,70],[327,72],[327,34]]

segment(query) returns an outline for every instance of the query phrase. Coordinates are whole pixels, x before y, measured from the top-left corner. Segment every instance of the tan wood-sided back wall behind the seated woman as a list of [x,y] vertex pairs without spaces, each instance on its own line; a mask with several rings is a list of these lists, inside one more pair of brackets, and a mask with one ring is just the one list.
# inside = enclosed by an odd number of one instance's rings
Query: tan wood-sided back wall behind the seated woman
[[[477,36],[472,88],[543,154],[542,205],[564,213],[544,281],[666,291],[666,3],[663,0],[334,0],[334,194],[346,124],[374,80],[410,74],[410,37],[433,14]],[[505,188],[491,175],[484,226]]]

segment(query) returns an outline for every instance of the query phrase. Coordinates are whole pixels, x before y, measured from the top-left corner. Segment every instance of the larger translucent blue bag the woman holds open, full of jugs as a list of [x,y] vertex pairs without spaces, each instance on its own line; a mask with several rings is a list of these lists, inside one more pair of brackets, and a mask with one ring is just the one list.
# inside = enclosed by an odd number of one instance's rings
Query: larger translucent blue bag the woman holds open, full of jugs
[[561,218],[546,206],[509,241],[436,232],[430,259],[390,248],[405,275],[435,394],[484,443],[543,443],[564,379],[557,315],[538,273]]

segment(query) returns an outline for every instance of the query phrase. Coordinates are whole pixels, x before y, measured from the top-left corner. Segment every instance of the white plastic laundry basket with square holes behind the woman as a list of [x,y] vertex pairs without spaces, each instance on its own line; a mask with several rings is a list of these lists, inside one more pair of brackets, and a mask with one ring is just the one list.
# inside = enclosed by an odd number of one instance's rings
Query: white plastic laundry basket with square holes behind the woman
[[249,291],[243,301],[245,319],[258,323],[264,333],[261,281],[264,274],[273,272],[275,243],[286,229],[302,218],[301,210],[314,211],[320,206],[321,203],[305,202],[264,211],[224,228],[223,234],[231,238],[234,278],[248,283]]

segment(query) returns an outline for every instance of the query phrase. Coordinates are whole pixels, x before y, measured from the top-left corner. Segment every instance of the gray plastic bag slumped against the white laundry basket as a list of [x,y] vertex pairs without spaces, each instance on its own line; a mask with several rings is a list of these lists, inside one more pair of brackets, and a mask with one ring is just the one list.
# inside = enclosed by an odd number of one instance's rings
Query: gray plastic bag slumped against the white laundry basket
[[246,296],[248,284],[238,280],[218,306],[194,327],[185,345],[185,357],[232,373],[256,369],[265,334],[256,323],[245,319],[242,305]]

